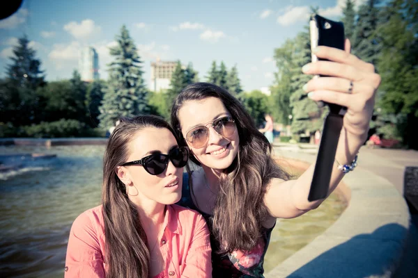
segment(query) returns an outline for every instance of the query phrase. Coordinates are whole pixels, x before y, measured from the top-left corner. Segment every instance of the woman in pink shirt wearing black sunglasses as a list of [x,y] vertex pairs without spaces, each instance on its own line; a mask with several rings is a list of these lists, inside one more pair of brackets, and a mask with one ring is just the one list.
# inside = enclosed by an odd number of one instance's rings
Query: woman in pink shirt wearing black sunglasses
[[72,224],[65,277],[210,277],[206,222],[174,205],[187,158],[162,118],[122,118],[104,152],[102,204]]

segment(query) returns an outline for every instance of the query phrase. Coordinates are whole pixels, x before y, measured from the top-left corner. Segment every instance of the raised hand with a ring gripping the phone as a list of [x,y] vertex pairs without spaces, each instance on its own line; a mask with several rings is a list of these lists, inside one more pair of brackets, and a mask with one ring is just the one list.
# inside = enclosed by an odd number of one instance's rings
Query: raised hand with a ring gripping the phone
[[373,115],[380,76],[371,63],[350,54],[349,40],[346,40],[346,51],[323,46],[314,51],[318,58],[328,61],[309,63],[302,67],[302,72],[327,77],[311,79],[304,90],[309,92],[308,96],[314,101],[346,106],[343,129],[346,129],[349,137],[354,136],[359,142],[364,142]]

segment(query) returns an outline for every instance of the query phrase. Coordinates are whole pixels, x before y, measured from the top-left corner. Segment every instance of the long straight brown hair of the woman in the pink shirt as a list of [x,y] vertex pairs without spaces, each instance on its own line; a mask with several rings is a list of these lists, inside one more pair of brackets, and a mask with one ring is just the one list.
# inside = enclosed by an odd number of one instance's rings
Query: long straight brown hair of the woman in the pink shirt
[[105,261],[109,265],[106,277],[110,278],[148,277],[149,274],[150,252],[146,234],[136,206],[127,197],[125,184],[116,174],[116,168],[129,156],[128,143],[145,127],[169,129],[176,137],[169,123],[161,117],[123,117],[111,133],[104,151],[102,205]]

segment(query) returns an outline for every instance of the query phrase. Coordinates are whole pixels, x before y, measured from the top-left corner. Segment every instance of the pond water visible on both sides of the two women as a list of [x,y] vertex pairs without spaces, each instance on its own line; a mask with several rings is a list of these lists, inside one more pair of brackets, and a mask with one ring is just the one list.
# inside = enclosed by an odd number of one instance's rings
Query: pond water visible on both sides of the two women
[[[33,152],[57,156],[0,173],[0,277],[63,277],[72,222],[100,204],[104,146],[0,146],[0,154]],[[344,208],[332,195],[315,211],[279,220],[266,272],[322,234]]]

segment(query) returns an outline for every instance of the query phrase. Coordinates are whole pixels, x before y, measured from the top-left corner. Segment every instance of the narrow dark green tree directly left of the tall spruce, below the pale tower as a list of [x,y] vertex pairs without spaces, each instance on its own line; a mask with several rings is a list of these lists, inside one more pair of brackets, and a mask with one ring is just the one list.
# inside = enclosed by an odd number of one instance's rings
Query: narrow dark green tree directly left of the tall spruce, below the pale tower
[[86,109],[87,117],[89,119],[87,123],[91,127],[96,127],[99,124],[99,107],[103,99],[104,86],[104,81],[95,80],[93,83],[90,83],[87,88]]

